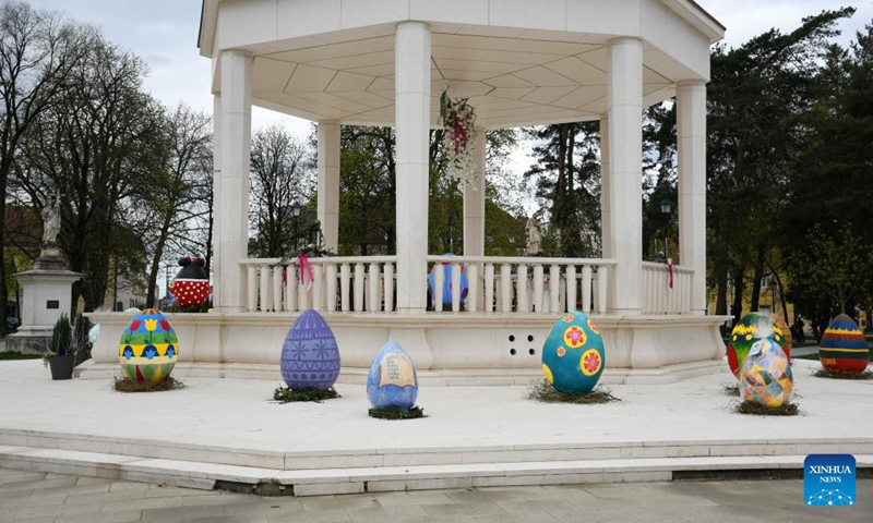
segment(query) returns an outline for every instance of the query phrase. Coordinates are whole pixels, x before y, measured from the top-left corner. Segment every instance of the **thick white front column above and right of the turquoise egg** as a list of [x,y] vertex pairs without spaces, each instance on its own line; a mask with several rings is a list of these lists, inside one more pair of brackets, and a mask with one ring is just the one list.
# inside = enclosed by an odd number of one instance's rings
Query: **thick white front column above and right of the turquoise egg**
[[643,308],[643,45],[636,38],[609,42],[609,231],[615,314]]

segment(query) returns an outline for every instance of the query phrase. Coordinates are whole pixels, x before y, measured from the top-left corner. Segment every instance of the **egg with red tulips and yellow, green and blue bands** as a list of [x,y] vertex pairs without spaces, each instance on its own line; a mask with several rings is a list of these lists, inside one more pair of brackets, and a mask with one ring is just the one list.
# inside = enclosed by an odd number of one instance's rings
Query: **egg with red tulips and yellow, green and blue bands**
[[154,308],[136,314],[118,344],[121,370],[141,384],[157,384],[179,358],[179,340],[167,317]]

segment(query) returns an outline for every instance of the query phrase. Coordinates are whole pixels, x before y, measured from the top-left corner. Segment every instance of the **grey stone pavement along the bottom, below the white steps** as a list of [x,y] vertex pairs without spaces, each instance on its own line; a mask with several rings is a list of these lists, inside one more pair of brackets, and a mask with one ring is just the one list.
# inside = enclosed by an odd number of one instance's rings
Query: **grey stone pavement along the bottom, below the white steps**
[[301,499],[0,470],[0,523],[869,523],[873,479],[859,479],[857,492],[858,504],[849,508],[804,506],[799,479],[492,487]]

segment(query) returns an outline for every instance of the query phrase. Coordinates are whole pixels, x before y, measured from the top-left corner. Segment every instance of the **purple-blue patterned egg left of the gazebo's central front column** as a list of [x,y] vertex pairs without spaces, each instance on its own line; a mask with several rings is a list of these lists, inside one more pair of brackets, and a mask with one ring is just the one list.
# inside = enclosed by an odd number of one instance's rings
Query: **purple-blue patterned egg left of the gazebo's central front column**
[[339,377],[336,338],[315,311],[303,311],[282,345],[282,378],[291,390],[327,390]]

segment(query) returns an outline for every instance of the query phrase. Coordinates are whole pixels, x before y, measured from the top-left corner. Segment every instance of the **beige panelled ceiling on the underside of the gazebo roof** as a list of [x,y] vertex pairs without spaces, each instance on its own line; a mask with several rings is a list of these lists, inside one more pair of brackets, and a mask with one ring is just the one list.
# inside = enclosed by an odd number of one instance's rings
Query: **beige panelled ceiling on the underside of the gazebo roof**
[[[202,49],[203,28],[208,28],[211,14],[218,19],[217,4],[204,2]],[[254,56],[255,105],[314,121],[391,125],[395,27],[396,23],[373,24],[255,39],[234,48]],[[477,124],[485,127],[591,120],[607,110],[607,42],[614,34],[440,22],[431,22],[431,31],[432,124],[439,121],[439,98],[446,89],[452,97],[468,98],[476,108]],[[646,105],[673,96],[678,81],[708,75],[710,38],[701,35],[699,39],[706,51],[703,74],[690,68],[689,60],[643,39]],[[218,66],[214,92],[219,90]]]

